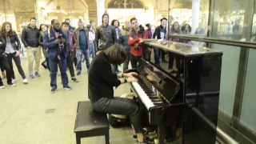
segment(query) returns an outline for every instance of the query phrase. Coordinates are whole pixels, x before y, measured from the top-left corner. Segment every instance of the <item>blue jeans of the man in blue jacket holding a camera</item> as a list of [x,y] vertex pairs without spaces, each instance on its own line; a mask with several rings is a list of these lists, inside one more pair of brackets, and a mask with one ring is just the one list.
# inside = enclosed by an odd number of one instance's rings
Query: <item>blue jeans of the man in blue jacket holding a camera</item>
[[62,85],[63,87],[69,86],[69,79],[67,78],[66,69],[66,58],[64,56],[61,57],[60,60],[58,58],[49,58],[49,65],[50,65],[50,86],[52,88],[57,88],[57,71],[58,66],[59,70],[61,71],[61,77],[62,77]]

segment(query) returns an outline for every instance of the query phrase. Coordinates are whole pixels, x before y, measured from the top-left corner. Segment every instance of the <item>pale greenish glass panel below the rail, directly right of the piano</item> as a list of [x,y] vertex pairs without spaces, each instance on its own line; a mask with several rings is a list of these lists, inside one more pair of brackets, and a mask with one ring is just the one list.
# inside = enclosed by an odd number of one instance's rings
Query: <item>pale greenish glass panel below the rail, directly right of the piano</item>
[[234,94],[238,77],[240,47],[212,44],[211,48],[223,52],[219,110],[232,117]]

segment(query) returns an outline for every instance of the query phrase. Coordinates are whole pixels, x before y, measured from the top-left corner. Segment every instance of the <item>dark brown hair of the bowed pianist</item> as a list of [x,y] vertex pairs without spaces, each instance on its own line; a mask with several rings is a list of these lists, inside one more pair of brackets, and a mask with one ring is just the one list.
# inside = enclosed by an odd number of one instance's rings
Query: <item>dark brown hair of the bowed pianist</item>
[[115,44],[110,46],[110,48],[106,49],[104,52],[110,59],[110,63],[113,65],[121,65],[126,61],[126,50],[122,45]]

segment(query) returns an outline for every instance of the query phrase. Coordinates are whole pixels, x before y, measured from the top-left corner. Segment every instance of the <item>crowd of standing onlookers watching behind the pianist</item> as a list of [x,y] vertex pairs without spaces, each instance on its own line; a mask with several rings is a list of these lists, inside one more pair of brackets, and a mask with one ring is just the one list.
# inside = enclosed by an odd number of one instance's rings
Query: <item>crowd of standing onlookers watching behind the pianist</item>
[[[123,71],[128,70],[129,63],[132,68],[136,68],[141,58],[150,60],[151,51],[154,51],[155,64],[160,66],[162,62],[168,62],[165,58],[166,52],[153,47],[142,45],[143,39],[166,39],[167,19],[161,19],[161,25],[151,30],[150,23],[146,24],[146,29],[139,24],[137,18],[127,19],[125,26],[120,29],[120,23],[114,19],[109,25],[109,15],[102,15],[102,25],[95,27],[95,22],[85,25],[82,20],[78,21],[78,28],[70,26],[70,19],[59,23],[57,19],[51,21],[51,25],[41,24],[37,27],[36,18],[30,18],[30,24],[22,30],[22,43],[26,47],[28,57],[29,78],[41,77],[39,74],[40,64],[50,71],[50,86],[54,93],[57,90],[56,78],[62,77],[62,85],[66,90],[71,90],[68,85],[69,80],[66,70],[70,71],[71,81],[79,82],[76,75],[82,74],[82,62],[86,62],[87,70],[90,68],[90,55],[94,58],[99,51],[118,43],[126,50],[126,62],[123,64]],[[95,31],[94,31],[95,30]],[[174,22],[171,34],[189,34],[190,25],[183,25],[181,28],[178,22]],[[197,30],[201,33],[200,30]],[[202,32],[203,33],[203,32]],[[174,39],[175,41],[175,39]],[[42,49],[42,50],[41,50]],[[19,57],[21,42],[17,33],[12,29],[10,22],[2,24],[0,34],[0,66],[2,78],[7,79],[7,84],[16,86],[14,66],[18,68],[19,74],[23,78],[23,83],[27,84],[28,79],[21,65]],[[40,63],[41,52],[46,58]],[[173,70],[174,56],[169,56],[169,68]],[[177,61],[176,61],[177,62]],[[75,74],[75,70],[77,74]],[[120,72],[118,66],[113,66],[113,71]],[[4,88],[0,77],[0,88]]]

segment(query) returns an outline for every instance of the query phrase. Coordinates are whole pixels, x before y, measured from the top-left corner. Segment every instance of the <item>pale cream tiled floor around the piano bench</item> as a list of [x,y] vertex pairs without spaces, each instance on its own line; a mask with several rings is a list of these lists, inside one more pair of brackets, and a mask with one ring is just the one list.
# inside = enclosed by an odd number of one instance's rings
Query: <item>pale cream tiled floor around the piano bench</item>
[[[22,58],[22,67],[28,75],[26,58]],[[58,92],[55,94],[50,93],[49,71],[42,66],[41,78],[29,79],[28,85],[22,84],[16,67],[14,70],[17,86],[6,86],[6,89],[0,90],[0,144],[74,144],[76,106],[78,101],[88,101],[86,70],[77,77],[79,83],[70,82],[73,88],[70,91],[62,89],[58,77]],[[67,73],[70,76],[69,71]],[[3,81],[6,83],[6,79]],[[129,86],[119,86],[115,95],[129,90]],[[46,110],[53,113],[46,113]],[[82,139],[84,144],[104,142],[104,137]],[[136,142],[130,128],[110,128],[110,143]]]

